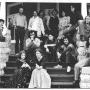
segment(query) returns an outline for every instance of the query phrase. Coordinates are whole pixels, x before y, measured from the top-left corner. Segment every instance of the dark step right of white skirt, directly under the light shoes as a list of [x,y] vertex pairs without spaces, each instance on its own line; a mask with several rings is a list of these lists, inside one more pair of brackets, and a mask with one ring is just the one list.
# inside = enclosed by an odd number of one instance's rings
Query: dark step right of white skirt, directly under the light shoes
[[[67,74],[66,68],[59,69],[59,68],[47,67],[46,69],[49,74]],[[74,70],[72,68],[70,74],[73,74],[73,73],[74,73]]]

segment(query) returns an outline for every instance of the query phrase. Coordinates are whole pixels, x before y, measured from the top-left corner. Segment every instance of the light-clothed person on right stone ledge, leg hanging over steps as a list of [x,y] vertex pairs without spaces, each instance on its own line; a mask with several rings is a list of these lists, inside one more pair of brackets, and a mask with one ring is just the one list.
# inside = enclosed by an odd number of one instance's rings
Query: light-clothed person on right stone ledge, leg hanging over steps
[[87,41],[85,40],[84,35],[80,35],[80,41],[77,41],[77,63],[74,66],[74,84],[76,86],[79,86],[79,75],[80,70],[82,67],[87,66],[90,62],[88,58],[88,47],[87,47]]

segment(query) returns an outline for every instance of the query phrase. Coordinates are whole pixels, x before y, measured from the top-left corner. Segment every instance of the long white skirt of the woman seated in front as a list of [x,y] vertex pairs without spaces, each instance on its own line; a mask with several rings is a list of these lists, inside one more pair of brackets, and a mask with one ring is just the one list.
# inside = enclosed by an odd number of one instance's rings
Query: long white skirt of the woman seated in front
[[29,88],[50,88],[51,78],[45,69],[34,69],[32,72]]

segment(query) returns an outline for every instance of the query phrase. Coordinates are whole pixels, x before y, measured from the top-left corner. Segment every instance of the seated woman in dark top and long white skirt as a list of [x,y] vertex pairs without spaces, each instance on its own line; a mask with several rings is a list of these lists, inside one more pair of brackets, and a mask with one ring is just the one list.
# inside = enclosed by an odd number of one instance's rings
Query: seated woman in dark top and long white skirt
[[45,69],[46,58],[41,49],[36,50],[36,67],[32,72],[29,88],[50,88],[51,78]]

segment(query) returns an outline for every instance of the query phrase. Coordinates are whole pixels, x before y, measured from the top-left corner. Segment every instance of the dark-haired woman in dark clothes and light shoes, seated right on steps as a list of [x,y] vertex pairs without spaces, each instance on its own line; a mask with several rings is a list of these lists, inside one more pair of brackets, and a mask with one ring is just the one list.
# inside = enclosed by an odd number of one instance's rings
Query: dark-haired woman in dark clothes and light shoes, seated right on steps
[[[70,42],[68,37],[63,38],[63,44],[57,47],[57,57],[59,64],[66,64],[67,72],[71,71],[71,66],[74,66],[76,62],[76,52],[73,43]],[[55,66],[55,68],[62,68],[60,65]]]

